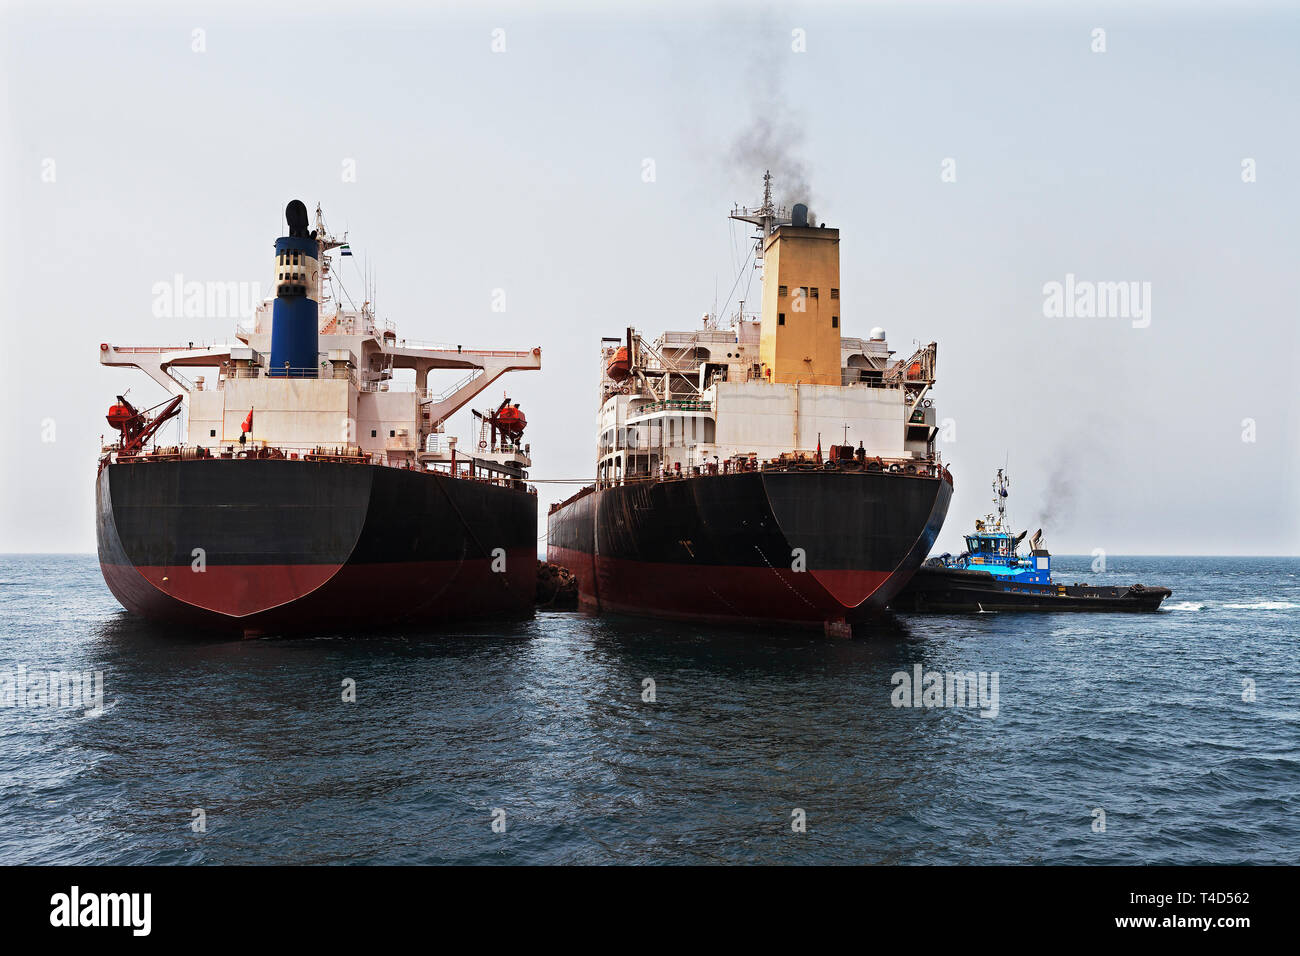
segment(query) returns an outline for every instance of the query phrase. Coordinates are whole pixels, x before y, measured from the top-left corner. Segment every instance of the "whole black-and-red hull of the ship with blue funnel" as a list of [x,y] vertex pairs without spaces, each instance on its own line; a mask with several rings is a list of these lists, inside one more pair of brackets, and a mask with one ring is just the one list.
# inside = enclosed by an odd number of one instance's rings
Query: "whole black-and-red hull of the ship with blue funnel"
[[150,619],[296,633],[532,611],[537,498],[524,486],[200,459],[109,464],[96,496],[104,580]]

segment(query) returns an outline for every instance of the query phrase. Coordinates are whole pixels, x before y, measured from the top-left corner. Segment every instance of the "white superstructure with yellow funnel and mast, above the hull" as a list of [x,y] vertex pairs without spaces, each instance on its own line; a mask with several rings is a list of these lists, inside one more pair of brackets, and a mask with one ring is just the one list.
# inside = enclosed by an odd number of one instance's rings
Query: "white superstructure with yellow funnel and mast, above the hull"
[[741,303],[728,328],[706,315],[703,328],[651,343],[634,329],[602,341],[597,481],[809,462],[939,468],[937,346],[896,360],[884,329],[841,334],[840,230],[811,221],[802,203],[786,215],[771,176],[763,202],[731,219],[755,228],[762,311]]

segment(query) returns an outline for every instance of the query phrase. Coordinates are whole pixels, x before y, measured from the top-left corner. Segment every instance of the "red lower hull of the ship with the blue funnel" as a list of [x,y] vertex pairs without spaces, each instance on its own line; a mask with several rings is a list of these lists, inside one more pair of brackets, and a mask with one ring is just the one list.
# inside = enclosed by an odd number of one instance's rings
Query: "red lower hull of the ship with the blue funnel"
[[525,617],[533,609],[537,557],[526,549],[493,562],[237,564],[134,567],[100,562],[129,611],[152,620],[246,636],[378,628],[400,622]]

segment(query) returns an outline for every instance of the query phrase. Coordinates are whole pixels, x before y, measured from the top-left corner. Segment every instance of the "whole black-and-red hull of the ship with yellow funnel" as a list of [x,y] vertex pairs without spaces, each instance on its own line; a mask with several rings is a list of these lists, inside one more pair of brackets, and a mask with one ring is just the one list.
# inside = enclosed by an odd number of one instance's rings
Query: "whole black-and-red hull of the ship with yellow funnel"
[[950,498],[946,479],[880,472],[630,483],[552,510],[547,558],[593,610],[838,633],[902,588]]

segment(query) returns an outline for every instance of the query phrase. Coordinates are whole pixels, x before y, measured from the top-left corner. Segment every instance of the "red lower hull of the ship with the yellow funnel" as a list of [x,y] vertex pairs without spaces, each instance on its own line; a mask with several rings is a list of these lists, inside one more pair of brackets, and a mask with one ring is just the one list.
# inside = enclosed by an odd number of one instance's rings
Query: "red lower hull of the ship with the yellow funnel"
[[[816,628],[832,635],[846,635],[853,624],[875,618],[885,596],[892,596],[907,576],[889,571],[649,563],[594,558],[568,548],[552,548],[549,558],[577,575],[578,601],[588,610]],[[855,602],[846,605],[841,600],[846,594]]]

